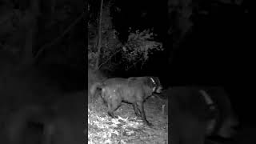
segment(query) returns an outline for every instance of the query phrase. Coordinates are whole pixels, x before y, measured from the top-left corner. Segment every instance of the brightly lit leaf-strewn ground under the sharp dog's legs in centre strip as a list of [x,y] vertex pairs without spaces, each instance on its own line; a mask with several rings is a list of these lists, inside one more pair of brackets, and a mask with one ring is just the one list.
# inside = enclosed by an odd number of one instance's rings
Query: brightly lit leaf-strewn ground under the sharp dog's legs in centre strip
[[[154,126],[147,126],[137,118],[131,104],[122,103],[110,118],[102,98],[88,105],[88,143],[168,143],[168,101],[154,97],[144,102],[146,118]],[[168,105],[167,105],[168,107]]]

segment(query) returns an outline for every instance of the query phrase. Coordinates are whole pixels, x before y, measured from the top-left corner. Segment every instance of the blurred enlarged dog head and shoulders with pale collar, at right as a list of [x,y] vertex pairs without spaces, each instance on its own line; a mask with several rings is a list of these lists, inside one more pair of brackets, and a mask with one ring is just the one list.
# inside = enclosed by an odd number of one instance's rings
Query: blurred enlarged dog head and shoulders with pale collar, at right
[[170,96],[171,143],[203,144],[210,137],[233,138],[238,119],[221,87],[178,86]]

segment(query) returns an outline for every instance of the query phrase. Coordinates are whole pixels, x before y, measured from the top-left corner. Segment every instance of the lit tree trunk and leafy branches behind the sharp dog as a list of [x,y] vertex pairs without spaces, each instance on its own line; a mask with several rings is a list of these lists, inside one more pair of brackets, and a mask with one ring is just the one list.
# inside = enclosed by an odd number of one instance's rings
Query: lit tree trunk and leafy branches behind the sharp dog
[[[98,67],[113,71],[117,68],[130,69],[131,66],[143,66],[149,59],[150,54],[155,51],[163,50],[162,43],[154,41],[155,34],[152,30],[129,30],[126,43],[121,43],[118,39],[118,32],[114,29],[110,7],[113,3],[108,2],[102,10],[102,42],[101,51],[98,54],[97,43],[98,34],[93,21],[89,23],[89,46],[88,62],[89,66],[94,67],[97,58],[100,58]],[[97,23],[97,22],[96,22]],[[125,65],[123,65],[125,63]]]

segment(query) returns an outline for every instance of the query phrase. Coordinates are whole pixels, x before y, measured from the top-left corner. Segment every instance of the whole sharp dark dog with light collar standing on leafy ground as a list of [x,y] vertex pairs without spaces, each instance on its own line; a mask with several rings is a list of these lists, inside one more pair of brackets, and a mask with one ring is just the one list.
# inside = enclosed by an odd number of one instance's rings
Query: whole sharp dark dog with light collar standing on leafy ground
[[146,120],[143,102],[154,92],[161,93],[162,85],[158,78],[109,78],[105,82],[98,82],[91,86],[90,93],[94,95],[98,88],[101,89],[102,98],[108,106],[108,114],[112,118],[116,118],[114,110],[117,110],[122,102],[128,102],[133,104],[137,116],[142,117],[148,126],[153,126]]

